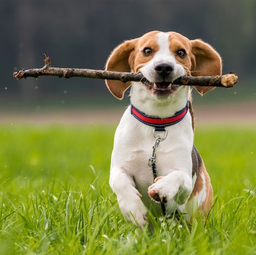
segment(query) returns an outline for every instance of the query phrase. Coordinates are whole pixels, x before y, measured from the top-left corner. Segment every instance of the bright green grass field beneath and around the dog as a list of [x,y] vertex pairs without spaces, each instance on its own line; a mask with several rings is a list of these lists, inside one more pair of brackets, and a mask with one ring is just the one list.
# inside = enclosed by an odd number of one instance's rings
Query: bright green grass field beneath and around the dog
[[202,219],[154,233],[123,219],[109,180],[114,128],[0,126],[0,254],[256,254],[255,127],[199,127],[214,189]]

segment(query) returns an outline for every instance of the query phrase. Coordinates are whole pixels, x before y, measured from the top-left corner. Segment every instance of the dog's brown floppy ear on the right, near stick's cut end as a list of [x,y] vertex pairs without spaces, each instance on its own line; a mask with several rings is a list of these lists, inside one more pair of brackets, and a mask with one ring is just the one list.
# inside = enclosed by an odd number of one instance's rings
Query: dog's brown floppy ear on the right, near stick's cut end
[[[217,51],[202,40],[191,40],[192,47],[192,72],[193,76],[220,75],[222,70],[221,58]],[[203,95],[215,87],[194,86]]]

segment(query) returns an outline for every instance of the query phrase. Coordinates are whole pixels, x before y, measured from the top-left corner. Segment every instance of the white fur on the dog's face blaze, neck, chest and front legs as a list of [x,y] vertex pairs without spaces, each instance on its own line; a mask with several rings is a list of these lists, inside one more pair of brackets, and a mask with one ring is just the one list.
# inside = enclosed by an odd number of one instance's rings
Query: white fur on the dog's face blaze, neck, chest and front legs
[[[183,75],[185,71],[180,71],[180,65],[170,53],[168,35],[159,33],[157,38],[160,49],[141,68],[143,74],[150,80],[157,61],[170,61],[177,75]],[[133,82],[131,103],[148,115],[164,118],[185,107],[189,93],[187,86],[181,86],[168,98],[158,99],[144,85]],[[152,169],[147,164],[155,141],[153,127],[139,122],[128,107],[114,136],[110,186],[117,195],[125,218],[139,226],[145,224],[146,208],[151,208],[156,216],[161,213],[161,205],[151,200],[148,189],[154,189],[160,197],[167,198],[167,213],[172,213],[179,204],[184,204],[192,192],[193,130],[190,113],[187,112],[183,120],[166,127],[166,130],[167,137],[160,142],[156,155],[158,175],[163,178],[156,183],[153,183]]]

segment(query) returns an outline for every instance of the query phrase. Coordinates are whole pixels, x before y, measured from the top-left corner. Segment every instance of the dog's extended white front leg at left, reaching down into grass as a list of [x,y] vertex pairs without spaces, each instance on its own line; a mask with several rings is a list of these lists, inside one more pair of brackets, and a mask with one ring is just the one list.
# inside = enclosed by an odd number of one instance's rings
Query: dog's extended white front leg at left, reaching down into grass
[[122,168],[113,167],[110,173],[110,187],[117,195],[117,201],[126,220],[143,228],[146,223],[147,210],[135,188],[132,176]]

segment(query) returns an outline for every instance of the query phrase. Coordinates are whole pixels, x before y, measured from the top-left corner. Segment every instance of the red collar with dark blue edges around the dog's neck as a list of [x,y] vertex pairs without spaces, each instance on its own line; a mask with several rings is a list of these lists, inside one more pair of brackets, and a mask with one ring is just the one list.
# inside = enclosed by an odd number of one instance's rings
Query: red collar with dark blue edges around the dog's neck
[[156,130],[164,130],[165,127],[171,126],[180,122],[185,117],[187,111],[188,111],[188,102],[183,109],[176,112],[174,115],[167,118],[157,118],[154,116],[146,115],[145,113],[140,112],[139,109],[131,105],[131,114],[134,116],[134,118],[136,118],[137,120],[139,120],[140,122],[146,125],[156,128]]

